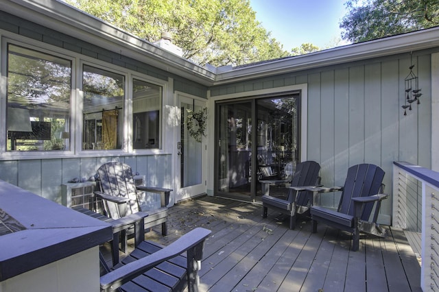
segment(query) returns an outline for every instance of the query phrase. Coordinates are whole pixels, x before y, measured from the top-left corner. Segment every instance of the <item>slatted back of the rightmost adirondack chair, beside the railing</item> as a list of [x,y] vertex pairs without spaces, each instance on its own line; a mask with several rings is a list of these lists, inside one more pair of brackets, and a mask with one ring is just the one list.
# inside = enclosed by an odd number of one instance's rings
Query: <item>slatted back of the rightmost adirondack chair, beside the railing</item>
[[[366,197],[379,193],[384,174],[383,169],[377,167],[377,165],[361,164],[350,167],[346,175],[338,212],[353,215],[354,203],[351,198]],[[368,220],[372,208],[373,203],[366,204],[361,219]]]

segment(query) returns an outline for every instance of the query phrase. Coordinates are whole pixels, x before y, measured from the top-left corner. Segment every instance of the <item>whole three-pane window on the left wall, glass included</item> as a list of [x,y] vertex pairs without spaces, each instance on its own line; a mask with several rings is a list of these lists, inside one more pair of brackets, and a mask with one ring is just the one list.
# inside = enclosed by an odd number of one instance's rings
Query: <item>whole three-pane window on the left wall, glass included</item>
[[[3,40],[7,88],[2,92],[7,94],[0,107],[5,108],[0,154],[27,157],[50,151],[49,158],[80,150],[91,156],[163,147],[163,80]],[[75,66],[79,62],[82,66]],[[82,104],[82,111],[75,104]]]

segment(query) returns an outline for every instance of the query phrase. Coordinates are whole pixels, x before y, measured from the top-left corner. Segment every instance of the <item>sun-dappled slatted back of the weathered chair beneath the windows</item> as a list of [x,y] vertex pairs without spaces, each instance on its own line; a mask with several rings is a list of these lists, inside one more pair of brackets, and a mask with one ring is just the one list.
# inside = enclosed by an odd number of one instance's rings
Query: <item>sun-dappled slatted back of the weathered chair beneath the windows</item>
[[[129,165],[121,162],[108,162],[97,170],[101,190],[107,195],[115,197],[128,197],[130,202],[127,208],[127,214],[139,212],[139,204],[137,202],[136,185],[132,178],[132,169]],[[116,204],[108,202],[108,212],[113,219],[123,217],[119,213]]]

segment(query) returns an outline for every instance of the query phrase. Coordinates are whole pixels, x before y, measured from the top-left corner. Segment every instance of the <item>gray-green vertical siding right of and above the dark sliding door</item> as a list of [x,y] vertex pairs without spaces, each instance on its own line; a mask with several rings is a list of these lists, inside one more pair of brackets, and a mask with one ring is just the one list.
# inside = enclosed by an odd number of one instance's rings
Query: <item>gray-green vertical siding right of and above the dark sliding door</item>
[[[414,51],[412,64],[423,96],[403,115],[404,79],[410,53],[299,73],[215,86],[211,96],[307,84],[307,159],[320,162],[324,186],[342,186],[348,167],[379,165],[385,171],[379,221],[392,215],[392,162],[431,168],[431,53]],[[437,51],[437,49],[436,49]],[[322,206],[337,208],[340,193],[322,196]]]

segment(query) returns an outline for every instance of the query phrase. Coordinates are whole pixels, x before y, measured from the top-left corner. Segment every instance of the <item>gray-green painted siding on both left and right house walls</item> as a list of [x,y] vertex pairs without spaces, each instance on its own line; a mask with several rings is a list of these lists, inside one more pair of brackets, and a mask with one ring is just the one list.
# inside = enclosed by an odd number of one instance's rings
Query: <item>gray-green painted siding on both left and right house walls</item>
[[[383,167],[385,193],[392,195],[392,162],[404,160],[423,167],[437,168],[438,160],[432,155],[434,149],[434,124],[431,114],[431,87],[436,84],[431,69],[438,68],[432,60],[438,60],[439,48],[410,51],[394,56],[368,59],[320,69],[283,73],[270,77],[233,82],[207,88],[201,84],[158,69],[145,62],[73,38],[54,29],[37,25],[12,14],[0,11],[0,36],[20,36],[32,42],[40,42],[55,48],[68,50],[87,58],[106,62],[112,66],[143,73],[163,80],[167,92],[163,97],[164,112],[176,112],[176,92],[187,93],[209,99],[208,134],[213,134],[215,117],[214,101],[227,96],[253,95],[261,90],[278,90],[299,86],[307,88],[307,110],[302,112],[307,119],[305,143],[302,142],[306,159],[316,160],[322,165],[322,183],[326,186],[344,183],[349,166],[361,162],[375,163]],[[25,41],[24,41],[25,42]],[[3,48],[1,48],[3,49]],[[431,54],[436,53],[436,58]],[[411,61],[412,58],[412,61]],[[420,105],[403,116],[404,78],[410,64],[419,77],[423,96]],[[156,64],[156,66],[160,66]],[[294,68],[292,68],[292,71]],[[174,71],[176,72],[176,71]],[[267,72],[270,74],[270,72]],[[182,74],[183,76],[187,76]],[[189,77],[188,77],[189,78]],[[243,79],[240,77],[240,79]],[[203,82],[200,82],[203,83]],[[2,80],[3,86],[5,81]],[[437,87],[437,86],[436,86]],[[1,88],[2,90],[4,89]],[[271,91],[271,92],[272,92]],[[1,93],[1,92],[0,92]],[[1,98],[5,93],[1,93]],[[0,106],[1,109],[1,106]],[[0,121],[5,121],[0,117]],[[147,175],[147,182],[154,186],[172,187],[174,155],[173,140],[176,128],[169,127],[163,151],[151,154],[105,154],[84,157],[56,157],[41,159],[0,158],[0,179],[21,186],[29,191],[61,202],[60,184],[71,178],[88,178],[97,167],[109,160],[128,162],[134,171]],[[433,138],[432,138],[433,136]],[[213,157],[214,141],[209,141],[207,150]],[[436,153],[436,152],[435,152]],[[209,164],[207,193],[213,195],[214,165]],[[154,173],[156,177],[154,178]],[[160,177],[160,178],[159,178]],[[339,194],[329,195],[320,204],[336,207]],[[382,220],[390,223],[392,199],[383,203]]]

